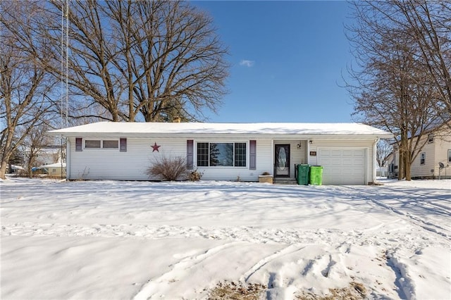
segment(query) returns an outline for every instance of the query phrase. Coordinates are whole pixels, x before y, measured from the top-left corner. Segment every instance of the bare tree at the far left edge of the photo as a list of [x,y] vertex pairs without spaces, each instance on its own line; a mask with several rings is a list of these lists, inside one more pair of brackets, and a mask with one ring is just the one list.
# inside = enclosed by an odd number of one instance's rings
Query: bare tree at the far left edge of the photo
[[45,72],[45,40],[37,33],[42,11],[34,2],[0,2],[0,178],[35,125],[45,122],[54,81]]

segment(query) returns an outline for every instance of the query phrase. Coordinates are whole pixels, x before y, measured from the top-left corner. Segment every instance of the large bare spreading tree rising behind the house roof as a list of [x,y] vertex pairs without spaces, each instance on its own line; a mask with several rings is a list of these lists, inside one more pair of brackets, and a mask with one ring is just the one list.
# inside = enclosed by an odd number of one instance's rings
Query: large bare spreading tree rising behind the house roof
[[[66,10],[51,4],[55,15]],[[188,2],[69,1],[68,21],[71,101],[101,106],[108,114],[99,117],[197,120],[221,104],[227,49],[211,18]]]

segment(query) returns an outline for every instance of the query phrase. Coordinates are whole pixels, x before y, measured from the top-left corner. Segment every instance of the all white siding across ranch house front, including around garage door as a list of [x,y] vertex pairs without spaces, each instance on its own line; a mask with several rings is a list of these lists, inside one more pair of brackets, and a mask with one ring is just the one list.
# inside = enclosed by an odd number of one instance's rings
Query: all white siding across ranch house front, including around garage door
[[[280,137],[280,136],[279,136]],[[373,143],[371,139],[353,139],[352,136],[340,137],[340,139],[314,139],[312,144],[308,138],[296,138],[294,136],[278,139],[274,136],[259,137],[259,135],[197,135],[187,137],[137,137],[134,136],[106,136],[89,135],[83,137],[92,140],[120,140],[127,139],[127,151],[121,152],[118,148],[113,149],[83,149],[75,151],[75,137],[70,138],[70,154],[68,156],[68,179],[70,180],[158,180],[149,177],[146,173],[152,163],[162,156],[175,158],[182,156],[187,158],[187,140],[193,141],[193,169],[202,173],[202,180],[242,180],[258,181],[259,175],[268,172],[274,173],[274,145],[290,144],[290,177],[295,178],[295,164],[309,163],[318,165],[319,150],[328,147],[347,149],[364,149],[365,170],[364,183],[373,182],[372,158]],[[256,168],[249,170],[249,140],[256,141]],[[198,142],[242,142],[246,143],[246,166],[243,167],[199,167],[197,166],[197,143]],[[152,151],[152,145],[160,146],[159,151]],[[435,144],[435,143],[434,143]],[[299,147],[298,147],[299,145]],[[309,156],[309,151],[316,151],[316,156]],[[324,172],[328,174],[324,165]],[[374,171],[375,172],[375,171]],[[327,182],[325,183],[327,184]]]

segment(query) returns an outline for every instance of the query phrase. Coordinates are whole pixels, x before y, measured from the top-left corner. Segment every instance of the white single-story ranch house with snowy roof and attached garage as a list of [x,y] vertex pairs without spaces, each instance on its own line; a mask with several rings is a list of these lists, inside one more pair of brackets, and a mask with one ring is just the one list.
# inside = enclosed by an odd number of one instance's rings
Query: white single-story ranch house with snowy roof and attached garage
[[161,157],[185,158],[202,180],[295,180],[295,164],[323,166],[324,185],[376,181],[376,143],[389,132],[358,123],[111,123],[61,130],[69,180],[157,180]]

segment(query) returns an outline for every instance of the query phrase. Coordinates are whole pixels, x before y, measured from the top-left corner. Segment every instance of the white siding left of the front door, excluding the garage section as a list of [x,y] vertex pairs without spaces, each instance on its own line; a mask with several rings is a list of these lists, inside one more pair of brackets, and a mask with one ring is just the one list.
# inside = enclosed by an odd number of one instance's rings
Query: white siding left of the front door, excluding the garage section
[[[119,137],[117,137],[119,139]],[[101,139],[89,137],[89,139]],[[109,139],[111,139],[109,137]],[[249,170],[249,140],[194,139],[194,169],[197,165],[197,142],[246,142],[247,166],[199,167],[202,180],[242,180],[258,181],[264,172],[273,173],[272,140],[257,139],[257,168]],[[152,145],[160,146],[152,152]],[[159,158],[183,156],[186,158],[186,139],[127,138],[127,152],[119,149],[83,149],[75,151],[75,138],[70,139],[70,180],[158,180],[149,177],[147,168]]]

